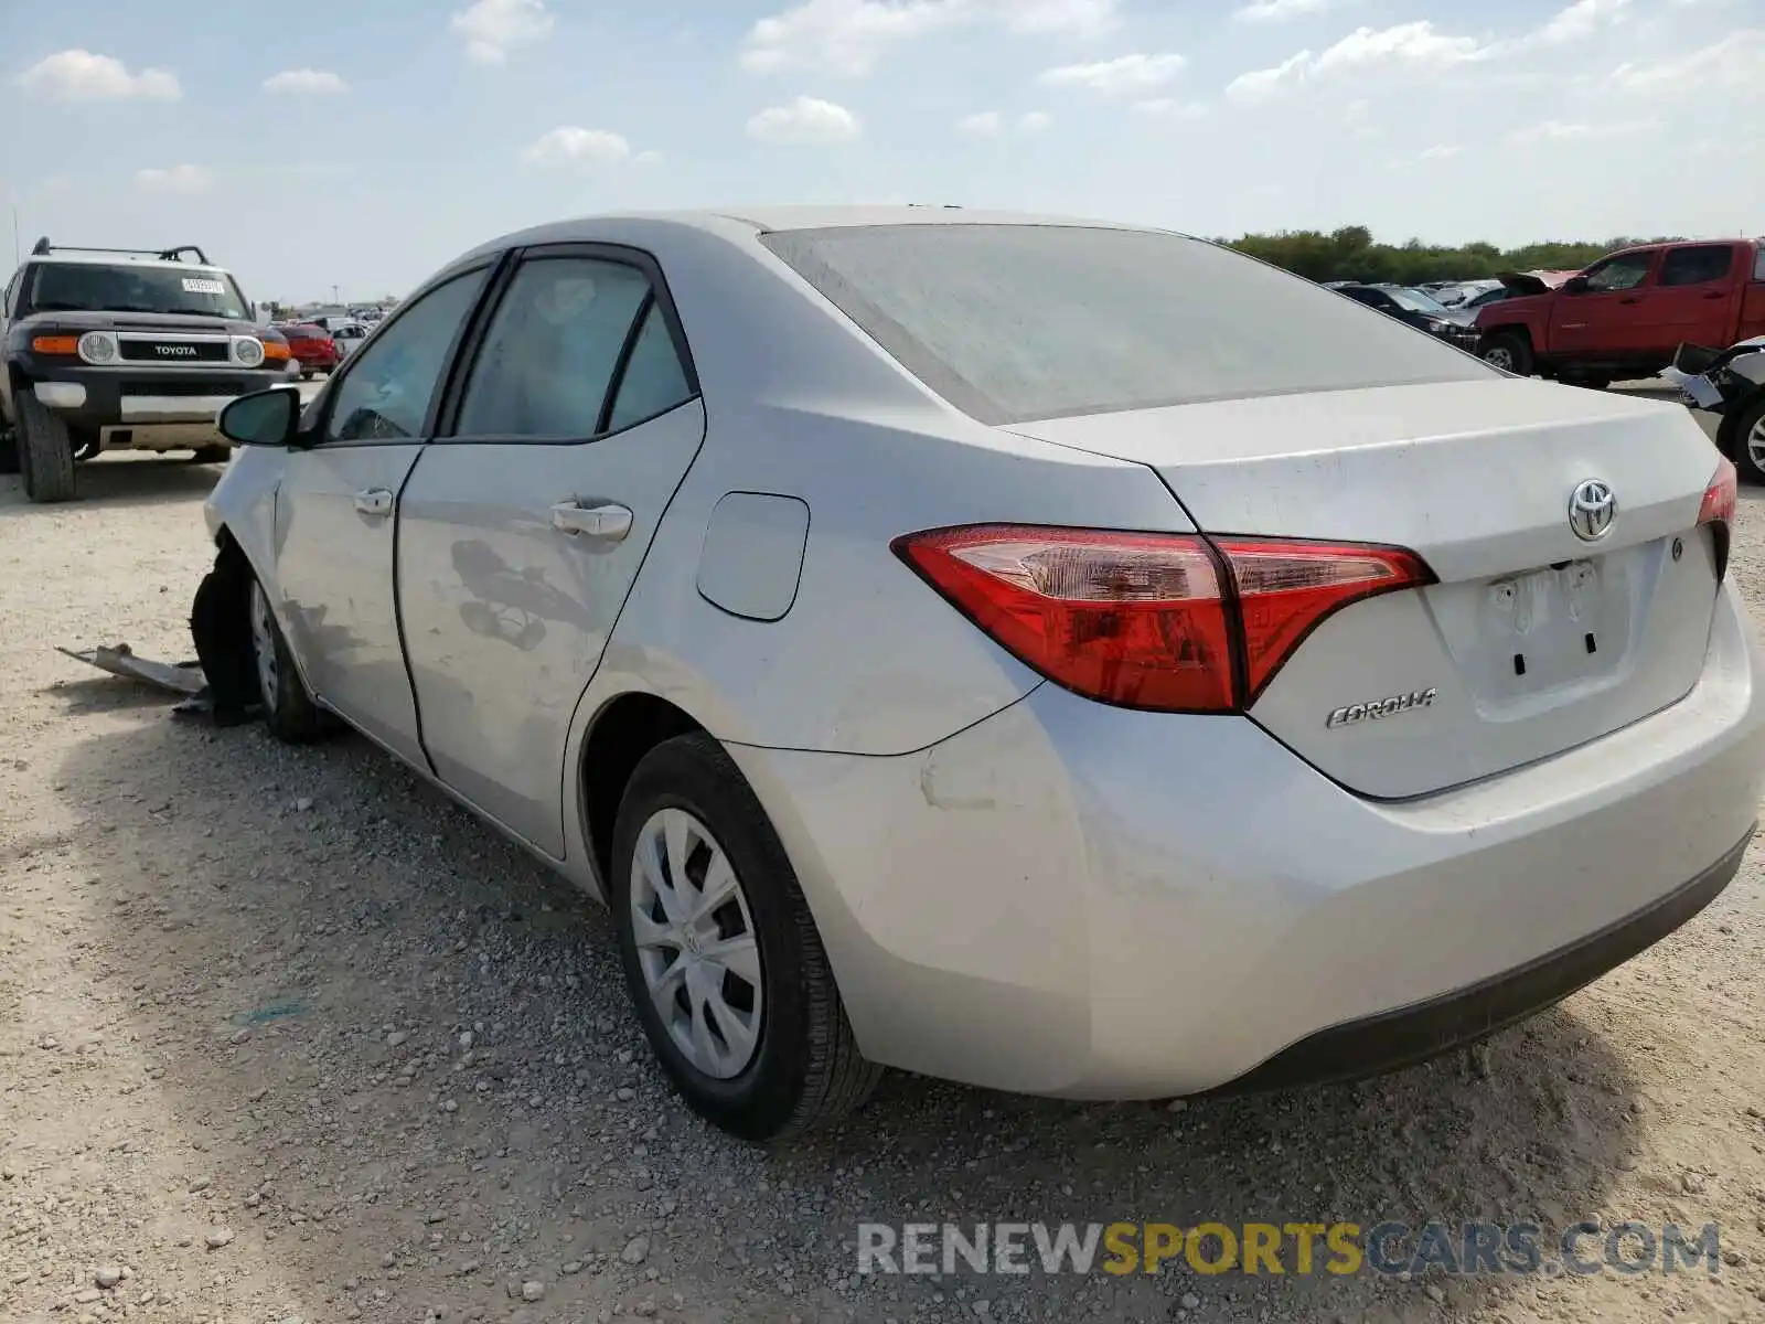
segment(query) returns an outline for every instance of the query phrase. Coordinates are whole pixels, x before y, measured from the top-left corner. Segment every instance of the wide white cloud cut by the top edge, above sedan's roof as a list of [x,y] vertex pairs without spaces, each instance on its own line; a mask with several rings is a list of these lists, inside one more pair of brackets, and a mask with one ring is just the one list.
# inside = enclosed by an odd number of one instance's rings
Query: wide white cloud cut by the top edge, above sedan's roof
[[934,32],[997,25],[1025,35],[1094,35],[1115,25],[1119,0],[801,0],[759,19],[741,67],[863,78],[895,48]]

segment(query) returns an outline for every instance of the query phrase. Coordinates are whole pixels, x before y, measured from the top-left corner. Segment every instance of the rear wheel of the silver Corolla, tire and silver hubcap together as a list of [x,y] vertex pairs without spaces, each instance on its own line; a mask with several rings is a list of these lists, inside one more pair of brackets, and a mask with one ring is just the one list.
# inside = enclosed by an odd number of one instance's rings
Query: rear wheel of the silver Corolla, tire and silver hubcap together
[[775,1140],[868,1098],[881,1068],[858,1052],[791,860],[710,736],[676,736],[637,764],[611,891],[637,1017],[695,1112]]

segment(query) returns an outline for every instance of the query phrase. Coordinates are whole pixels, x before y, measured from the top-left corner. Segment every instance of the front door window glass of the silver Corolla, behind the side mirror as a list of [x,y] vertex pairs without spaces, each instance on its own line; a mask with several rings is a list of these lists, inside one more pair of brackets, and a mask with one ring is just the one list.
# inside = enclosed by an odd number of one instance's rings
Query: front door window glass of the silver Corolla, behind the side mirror
[[455,275],[411,304],[371,348],[351,355],[349,372],[337,383],[325,440],[422,436],[448,351],[482,284],[484,268]]

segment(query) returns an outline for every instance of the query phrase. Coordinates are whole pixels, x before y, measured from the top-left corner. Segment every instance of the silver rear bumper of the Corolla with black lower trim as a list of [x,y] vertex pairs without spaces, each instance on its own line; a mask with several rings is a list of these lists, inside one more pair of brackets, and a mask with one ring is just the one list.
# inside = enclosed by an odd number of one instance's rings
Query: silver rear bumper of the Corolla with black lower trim
[[1726,586],[1679,704],[1405,803],[1354,796],[1244,718],[1052,685],[918,754],[731,754],[870,1057],[1158,1098],[1400,1064],[1670,932],[1754,824],[1754,676]]

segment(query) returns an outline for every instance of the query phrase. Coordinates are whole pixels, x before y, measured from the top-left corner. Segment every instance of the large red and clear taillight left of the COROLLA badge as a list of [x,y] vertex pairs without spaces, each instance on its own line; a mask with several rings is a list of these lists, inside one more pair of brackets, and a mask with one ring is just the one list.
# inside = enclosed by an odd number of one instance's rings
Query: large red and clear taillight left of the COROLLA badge
[[1333,613],[1433,583],[1400,547],[1290,538],[971,524],[891,547],[1025,666],[1158,711],[1243,711]]

